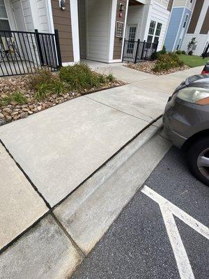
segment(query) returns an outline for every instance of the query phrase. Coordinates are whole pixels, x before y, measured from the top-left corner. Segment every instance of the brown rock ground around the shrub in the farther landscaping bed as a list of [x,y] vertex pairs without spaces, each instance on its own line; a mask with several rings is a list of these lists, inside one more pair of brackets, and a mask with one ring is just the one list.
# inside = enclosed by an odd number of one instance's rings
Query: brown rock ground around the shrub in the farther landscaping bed
[[162,70],[160,72],[156,72],[155,70],[153,70],[153,68],[155,68],[157,61],[144,61],[144,62],[139,62],[139,63],[128,63],[127,65],[125,65],[127,68],[132,68],[134,70],[140,70],[141,72],[145,72],[145,73],[150,73],[153,75],[167,75],[169,73],[175,73],[178,70],[187,70],[189,69],[189,66],[187,65],[183,65],[183,66],[178,66],[175,68],[170,68],[168,70]]

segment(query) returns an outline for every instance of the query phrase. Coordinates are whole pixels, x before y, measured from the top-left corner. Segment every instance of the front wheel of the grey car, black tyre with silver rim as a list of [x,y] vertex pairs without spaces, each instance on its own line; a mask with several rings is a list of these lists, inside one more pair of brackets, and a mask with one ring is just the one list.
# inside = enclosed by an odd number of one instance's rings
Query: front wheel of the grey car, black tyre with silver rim
[[209,186],[209,137],[193,142],[189,146],[187,159],[194,176]]

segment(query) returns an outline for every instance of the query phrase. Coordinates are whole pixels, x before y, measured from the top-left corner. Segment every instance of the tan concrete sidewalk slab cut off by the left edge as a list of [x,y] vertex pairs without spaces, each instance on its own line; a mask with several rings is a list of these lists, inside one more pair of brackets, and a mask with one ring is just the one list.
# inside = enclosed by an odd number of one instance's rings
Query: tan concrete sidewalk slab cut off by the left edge
[[0,250],[47,210],[45,202],[0,144]]

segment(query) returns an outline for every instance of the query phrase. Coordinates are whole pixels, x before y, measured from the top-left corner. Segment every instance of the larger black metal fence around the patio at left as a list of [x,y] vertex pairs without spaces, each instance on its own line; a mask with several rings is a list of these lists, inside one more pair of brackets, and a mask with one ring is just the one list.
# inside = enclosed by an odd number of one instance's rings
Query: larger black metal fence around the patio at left
[[61,66],[59,33],[0,30],[0,76],[33,73],[47,67],[55,71]]

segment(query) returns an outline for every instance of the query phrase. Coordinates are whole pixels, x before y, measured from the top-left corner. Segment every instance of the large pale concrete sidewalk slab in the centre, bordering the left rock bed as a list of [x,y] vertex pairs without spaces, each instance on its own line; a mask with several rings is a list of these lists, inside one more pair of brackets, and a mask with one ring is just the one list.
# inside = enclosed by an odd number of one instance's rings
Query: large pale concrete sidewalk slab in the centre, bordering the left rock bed
[[80,97],[1,126],[0,137],[54,206],[147,124]]

